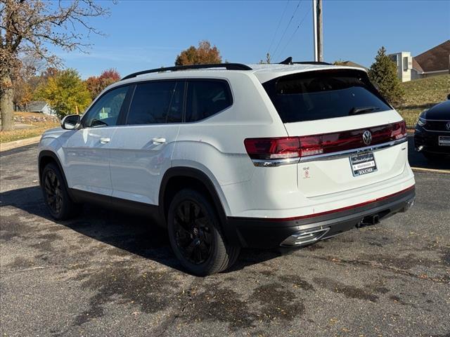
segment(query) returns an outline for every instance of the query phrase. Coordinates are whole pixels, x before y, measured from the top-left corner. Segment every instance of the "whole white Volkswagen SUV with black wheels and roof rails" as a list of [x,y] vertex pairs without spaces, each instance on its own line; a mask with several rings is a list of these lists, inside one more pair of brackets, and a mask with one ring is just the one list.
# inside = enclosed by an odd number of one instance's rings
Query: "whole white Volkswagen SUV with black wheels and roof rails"
[[[365,70],[319,62],[138,72],[39,143],[51,215],[153,217],[195,275],[241,247],[304,246],[413,204],[406,125]],[[150,225],[150,223],[149,223]]]

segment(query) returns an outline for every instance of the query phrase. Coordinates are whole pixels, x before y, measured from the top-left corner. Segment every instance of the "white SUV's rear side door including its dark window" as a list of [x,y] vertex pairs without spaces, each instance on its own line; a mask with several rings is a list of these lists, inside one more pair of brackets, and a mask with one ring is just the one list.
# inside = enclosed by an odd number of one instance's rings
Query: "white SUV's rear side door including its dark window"
[[125,124],[110,144],[113,197],[158,204],[183,117],[185,81],[136,84]]

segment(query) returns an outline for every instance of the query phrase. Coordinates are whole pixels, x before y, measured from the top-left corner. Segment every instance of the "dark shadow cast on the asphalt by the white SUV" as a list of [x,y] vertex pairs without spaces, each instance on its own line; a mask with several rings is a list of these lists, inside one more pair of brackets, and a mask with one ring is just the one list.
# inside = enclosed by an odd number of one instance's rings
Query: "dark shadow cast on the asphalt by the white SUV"
[[[4,206],[13,206],[91,239],[186,272],[172,252],[166,230],[152,224],[153,220],[150,218],[85,204],[76,218],[54,220],[46,209],[39,186],[1,192],[0,209]],[[236,264],[226,272],[271,260],[281,253],[278,250],[243,249]]]

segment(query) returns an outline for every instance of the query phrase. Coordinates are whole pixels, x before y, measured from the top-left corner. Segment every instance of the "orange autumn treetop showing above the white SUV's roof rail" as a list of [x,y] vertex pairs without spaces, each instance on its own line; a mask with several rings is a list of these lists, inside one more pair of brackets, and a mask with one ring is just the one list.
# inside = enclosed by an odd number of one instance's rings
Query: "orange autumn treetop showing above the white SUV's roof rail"
[[216,46],[211,48],[209,41],[200,41],[198,48],[190,46],[176,56],[175,65],[212,65],[221,63],[222,58]]

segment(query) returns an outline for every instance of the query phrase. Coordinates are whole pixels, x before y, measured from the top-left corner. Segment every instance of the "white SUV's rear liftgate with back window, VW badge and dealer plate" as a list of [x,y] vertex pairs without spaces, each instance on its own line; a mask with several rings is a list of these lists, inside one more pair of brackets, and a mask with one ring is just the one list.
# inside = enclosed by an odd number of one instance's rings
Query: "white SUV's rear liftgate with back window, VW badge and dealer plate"
[[263,84],[288,136],[300,140],[298,185],[318,197],[398,176],[406,124],[362,70],[300,72]]

